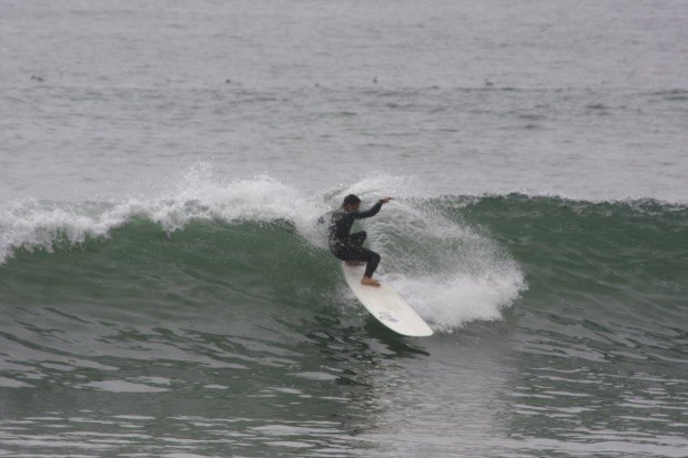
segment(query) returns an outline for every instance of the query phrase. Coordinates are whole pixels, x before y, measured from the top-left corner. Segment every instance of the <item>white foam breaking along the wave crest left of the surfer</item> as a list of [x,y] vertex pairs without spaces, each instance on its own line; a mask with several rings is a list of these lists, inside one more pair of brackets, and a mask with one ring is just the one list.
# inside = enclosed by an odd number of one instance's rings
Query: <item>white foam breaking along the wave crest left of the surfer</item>
[[318,216],[327,207],[270,176],[223,182],[210,167],[199,165],[169,192],[155,199],[129,199],[115,204],[68,204],[26,200],[0,206],[0,264],[18,248],[51,252],[57,241],[82,243],[88,237],[109,236],[134,215],[144,215],[168,232],[195,220],[284,220],[322,245],[316,231]]

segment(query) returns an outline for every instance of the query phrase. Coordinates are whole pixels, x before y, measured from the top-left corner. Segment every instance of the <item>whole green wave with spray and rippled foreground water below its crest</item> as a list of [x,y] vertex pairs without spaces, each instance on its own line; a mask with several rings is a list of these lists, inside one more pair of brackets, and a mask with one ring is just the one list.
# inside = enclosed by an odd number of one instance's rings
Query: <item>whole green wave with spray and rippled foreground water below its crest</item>
[[[479,456],[545,439],[566,455],[571,434],[609,456],[685,445],[685,206],[523,195],[385,206],[361,226],[380,275],[437,332],[407,339],[346,288],[322,208],[22,205],[0,225],[9,450],[179,451],[151,432],[163,431],[198,455],[388,456],[381,428],[453,437],[476,418],[475,434],[497,437]],[[28,445],[19,425],[50,440]],[[93,440],[127,428],[120,445]],[[595,445],[615,435],[618,448]]]

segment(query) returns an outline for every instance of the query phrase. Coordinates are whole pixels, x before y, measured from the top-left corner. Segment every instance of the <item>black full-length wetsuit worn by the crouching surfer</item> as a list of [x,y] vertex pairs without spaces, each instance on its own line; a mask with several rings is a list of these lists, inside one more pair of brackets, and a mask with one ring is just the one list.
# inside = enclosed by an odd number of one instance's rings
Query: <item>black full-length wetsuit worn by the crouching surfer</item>
[[344,208],[332,213],[330,218],[330,250],[342,261],[365,261],[365,276],[372,277],[380,264],[380,255],[371,250],[363,247],[365,242],[365,231],[350,234],[354,221],[375,216],[382,208],[382,202],[377,202],[370,210],[360,212],[357,210],[346,211]]

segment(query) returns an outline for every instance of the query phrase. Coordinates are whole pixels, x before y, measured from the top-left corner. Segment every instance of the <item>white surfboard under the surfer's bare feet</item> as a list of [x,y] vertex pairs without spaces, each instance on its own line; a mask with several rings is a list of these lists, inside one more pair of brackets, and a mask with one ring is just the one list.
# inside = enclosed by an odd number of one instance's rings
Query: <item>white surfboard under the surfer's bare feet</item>
[[380,282],[380,278],[377,278],[380,287],[361,284],[365,266],[350,266],[342,263],[342,268],[351,291],[380,323],[405,336],[433,335],[433,329],[389,285]]

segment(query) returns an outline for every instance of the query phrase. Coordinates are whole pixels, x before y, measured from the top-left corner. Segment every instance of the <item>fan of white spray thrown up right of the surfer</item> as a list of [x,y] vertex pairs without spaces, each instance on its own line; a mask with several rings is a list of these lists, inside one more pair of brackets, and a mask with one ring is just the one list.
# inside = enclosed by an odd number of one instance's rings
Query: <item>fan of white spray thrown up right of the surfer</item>
[[527,287],[489,234],[452,221],[424,199],[403,199],[366,220],[380,273],[436,330],[502,317]]

